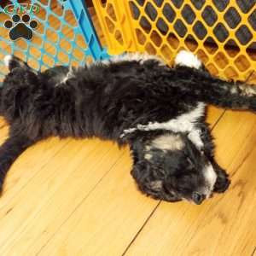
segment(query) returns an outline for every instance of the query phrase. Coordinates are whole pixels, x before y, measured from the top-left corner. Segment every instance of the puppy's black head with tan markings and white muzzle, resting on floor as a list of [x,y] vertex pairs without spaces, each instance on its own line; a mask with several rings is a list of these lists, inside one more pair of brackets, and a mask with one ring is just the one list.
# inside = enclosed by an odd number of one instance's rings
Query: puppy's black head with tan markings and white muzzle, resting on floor
[[212,195],[217,174],[206,155],[183,134],[165,132],[131,146],[138,188],[165,201],[201,204]]

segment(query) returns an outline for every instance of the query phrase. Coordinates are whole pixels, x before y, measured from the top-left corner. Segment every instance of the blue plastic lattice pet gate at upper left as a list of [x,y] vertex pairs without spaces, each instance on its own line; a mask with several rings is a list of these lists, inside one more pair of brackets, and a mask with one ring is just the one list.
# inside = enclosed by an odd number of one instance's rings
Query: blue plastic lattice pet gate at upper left
[[8,72],[4,55],[15,54],[36,70],[108,58],[84,1],[1,0],[0,82]]

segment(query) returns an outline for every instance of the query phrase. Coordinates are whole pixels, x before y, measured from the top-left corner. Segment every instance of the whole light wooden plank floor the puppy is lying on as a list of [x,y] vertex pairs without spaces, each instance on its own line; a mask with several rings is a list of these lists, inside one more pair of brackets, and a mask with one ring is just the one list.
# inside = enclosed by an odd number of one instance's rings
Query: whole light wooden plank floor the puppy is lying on
[[[201,206],[154,201],[137,191],[129,148],[50,138],[9,172],[0,255],[256,256],[256,115],[208,113],[217,160],[232,179],[224,195]],[[3,143],[3,119],[0,127]]]

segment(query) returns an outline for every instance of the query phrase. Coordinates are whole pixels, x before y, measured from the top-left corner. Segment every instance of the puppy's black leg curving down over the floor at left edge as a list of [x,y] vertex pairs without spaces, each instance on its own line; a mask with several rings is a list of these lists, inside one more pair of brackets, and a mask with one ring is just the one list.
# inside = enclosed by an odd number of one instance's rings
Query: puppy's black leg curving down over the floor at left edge
[[32,140],[26,135],[16,134],[10,135],[0,147],[0,194],[10,166],[32,144]]

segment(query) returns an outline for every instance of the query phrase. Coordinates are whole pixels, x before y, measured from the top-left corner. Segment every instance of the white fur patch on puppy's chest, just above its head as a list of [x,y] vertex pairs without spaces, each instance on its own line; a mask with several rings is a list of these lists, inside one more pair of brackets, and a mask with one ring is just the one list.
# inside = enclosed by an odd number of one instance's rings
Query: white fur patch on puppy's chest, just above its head
[[195,144],[197,148],[203,147],[201,141],[201,131],[196,128],[196,123],[205,113],[206,104],[199,102],[197,107],[188,113],[183,113],[176,119],[171,119],[165,123],[149,122],[148,125],[137,125],[136,128],[127,129],[123,132],[121,137],[125,134],[139,131],[154,131],[154,130],[167,130],[173,132],[188,132],[189,140]]

